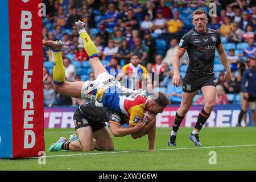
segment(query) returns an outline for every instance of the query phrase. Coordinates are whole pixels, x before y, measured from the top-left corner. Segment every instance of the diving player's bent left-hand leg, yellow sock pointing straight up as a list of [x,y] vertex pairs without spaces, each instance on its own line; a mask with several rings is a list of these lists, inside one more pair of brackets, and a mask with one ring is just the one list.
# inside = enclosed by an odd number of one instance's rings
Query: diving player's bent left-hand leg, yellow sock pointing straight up
[[43,40],[43,45],[50,48],[53,52],[53,87],[66,96],[81,98],[81,89],[83,81],[68,82],[65,81],[65,67],[61,56],[63,44],[61,41]]

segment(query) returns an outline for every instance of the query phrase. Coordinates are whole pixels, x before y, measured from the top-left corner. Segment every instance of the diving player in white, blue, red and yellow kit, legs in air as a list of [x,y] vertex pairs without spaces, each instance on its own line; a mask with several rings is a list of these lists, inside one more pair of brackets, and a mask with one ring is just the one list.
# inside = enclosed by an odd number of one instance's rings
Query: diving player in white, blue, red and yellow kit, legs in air
[[[52,42],[43,40],[43,45],[53,51],[53,83],[57,92],[69,97],[82,98],[96,101],[96,106],[109,107],[118,114],[127,114],[129,127],[134,127],[143,117],[144,110],[156,115],[170,104],[168,98],[161,92],[149,96],[141,90],[123,88],[115,78],[109,75],[98,58],[96,46],[86,33],[84,23],[76,22],[77,30],[84,43],[85,51],[89,55],[89,61],[96,80],[94,81],[65,81],[65,68],[61,57],[63,44],[60,41]],[[86,127],[77,130],[79,135],[86,132]]]

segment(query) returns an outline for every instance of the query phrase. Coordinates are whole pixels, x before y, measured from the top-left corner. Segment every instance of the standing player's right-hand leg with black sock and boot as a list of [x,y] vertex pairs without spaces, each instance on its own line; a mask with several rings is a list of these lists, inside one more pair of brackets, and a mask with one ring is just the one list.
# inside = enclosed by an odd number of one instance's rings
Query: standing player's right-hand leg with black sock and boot
[[216,87],[213,85],[203,86],[201,88],[201,92],[204,96],[204,108],[200,111],[196,125],[192,133],[189,135],[189,139],[195,144],[195,146],[201,146],[198,133],[204,126],[205,122],[207,122],[207,119],[215,105]]

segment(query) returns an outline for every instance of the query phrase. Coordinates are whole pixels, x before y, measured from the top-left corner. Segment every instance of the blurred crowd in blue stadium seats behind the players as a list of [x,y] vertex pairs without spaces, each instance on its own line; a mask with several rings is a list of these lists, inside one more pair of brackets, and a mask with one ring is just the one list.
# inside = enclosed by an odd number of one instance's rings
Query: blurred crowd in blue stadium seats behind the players
[[[218,54],[214,60],[217,78],[216,104],[238,104],[242,74],[248,61],[256,56],[256,1],[245,0],[43,0],[47,16],[43,17],[43,39],[61,40],[67,81],[93,80],[94,76],[74,22],[82,20],[98,49],[102,64],[125,86],[160,90],[171,104],[181,102],[181,86],[172,86],[172,57],[180,38],[193,28],[192,12],[216,3],[217,11],[209,18],[208,27],[220,32],[222,44],[232,69],[232,81],[224,84],[224,67]],[[44,47],[44,104],[80,105],[85,101],[55,93],[52,88],[52,52]],[[180,59],[184,77],[189,63],[187,53]],[[154,82],[154,73],[159,81]],[[144,79],[127,81],[127,77]],[[150,78],[149,78],[150,77]],[[148,81],[150,80],[150,81]],[[194,104],[204,104],[200,92]],[[253,107],[253,106],[252,106]],[[255,107],[255,105],[254,105]]]

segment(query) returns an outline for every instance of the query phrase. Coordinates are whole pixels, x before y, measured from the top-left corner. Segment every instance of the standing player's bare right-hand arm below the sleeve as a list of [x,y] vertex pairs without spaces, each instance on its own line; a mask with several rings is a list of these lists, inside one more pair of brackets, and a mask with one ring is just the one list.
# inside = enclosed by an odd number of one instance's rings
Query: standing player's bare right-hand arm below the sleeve
[[223,46],[218,47],[217,51],[218,51],[218,56],[220,57],[221,63],[224,65],[224,67],[226,69],[226,73],[224,76],[224,82],[228,83],[231,79],[231,71],[230,71],[230,67],[229,67],[228,57],[226,56],[226,52],[225,52]]

